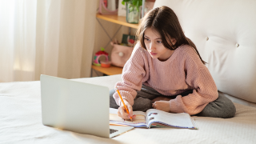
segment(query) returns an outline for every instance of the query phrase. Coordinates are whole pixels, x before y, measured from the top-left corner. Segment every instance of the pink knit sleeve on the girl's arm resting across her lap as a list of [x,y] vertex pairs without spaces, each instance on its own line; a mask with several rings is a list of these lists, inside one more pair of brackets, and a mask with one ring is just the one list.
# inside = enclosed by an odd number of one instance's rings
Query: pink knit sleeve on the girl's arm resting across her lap
[[186,54],[185,72],[186,83],[194,89],[193,93],[184,97],[178,95],[170,100],[170,112],[198,114],[209,102],[218,98],[218,89],[210,71],[194,50]]

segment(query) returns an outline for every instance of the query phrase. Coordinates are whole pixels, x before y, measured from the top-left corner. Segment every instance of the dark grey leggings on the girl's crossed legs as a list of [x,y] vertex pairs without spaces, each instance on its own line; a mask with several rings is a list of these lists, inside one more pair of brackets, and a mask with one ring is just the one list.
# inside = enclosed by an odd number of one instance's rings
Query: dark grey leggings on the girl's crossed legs
[[[118,105],[116,104],[113,94],[114,90],[110,90],[110,107],[118,109]],[[192,94],[193,90],[187,90],[183,92],[182,97],[187,96],[188,94]],[[176,95],[177,96],[177,95]],[[176,96],[172,96],[175,98]],[[134,98],[134,111],[146,111],[152,109],[152,100],[157,97],[166,97],[158,93],[157,90],[149,86],[142,85],[142,90],[138,91],[136,98]],[[170,97],[166,97],[170,98]],[[232,118],[236,112],[234,103],[230,101],[229,98],[226,98],[223,94],[218,94],[218,98],[214,102],[210,102],[206,107],[202,110],[202,112],[198,114],[194,114],[194,116],[202,116],[202,117],[214,117],[214,118]]]

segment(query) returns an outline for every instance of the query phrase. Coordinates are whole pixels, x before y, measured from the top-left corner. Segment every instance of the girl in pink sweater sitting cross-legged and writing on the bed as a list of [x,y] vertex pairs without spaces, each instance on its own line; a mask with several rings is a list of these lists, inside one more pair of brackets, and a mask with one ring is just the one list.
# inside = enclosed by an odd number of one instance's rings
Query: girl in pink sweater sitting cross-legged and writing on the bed
[[154,108],[171,113],[232,118],[233,102],[218,94],[209,70],[189,38],[186,38],[174,11],[157,7],[138,26],[138,42],[122,70],[122,82],[110,91],[110,107],[118,108],[124,119],[135,118],[133,110]]

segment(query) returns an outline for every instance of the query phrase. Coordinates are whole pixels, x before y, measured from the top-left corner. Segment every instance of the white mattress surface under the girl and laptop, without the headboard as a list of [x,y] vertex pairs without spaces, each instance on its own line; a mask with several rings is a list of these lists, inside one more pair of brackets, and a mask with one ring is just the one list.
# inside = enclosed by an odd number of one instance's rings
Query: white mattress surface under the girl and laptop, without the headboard
[[[120,75],[74,79],[114,87]],[[98,138],[42,125],[40,82],[0,83],[0,143],[256,143],[256,108],[234,103],[234,118],[194,117],[199,130],[136,128]]]

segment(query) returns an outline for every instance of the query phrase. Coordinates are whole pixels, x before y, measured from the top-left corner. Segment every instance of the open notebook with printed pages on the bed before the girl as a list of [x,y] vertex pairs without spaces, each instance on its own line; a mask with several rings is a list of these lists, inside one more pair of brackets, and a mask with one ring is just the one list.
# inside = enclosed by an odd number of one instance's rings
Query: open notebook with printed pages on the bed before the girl
[[162,110],[150,109],[146,112],[134,111],[136,118],[133,122],[124,120],[118,116],[118,109],[110,108],[110,124],[111,125],[125,125],[134,127],[177,127],[186,129],[198,129],[195,125],[194,118],[190,114],[167,113]]

